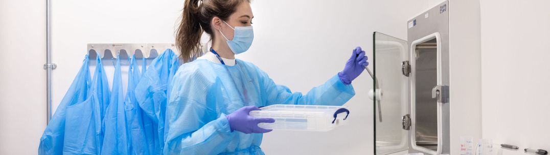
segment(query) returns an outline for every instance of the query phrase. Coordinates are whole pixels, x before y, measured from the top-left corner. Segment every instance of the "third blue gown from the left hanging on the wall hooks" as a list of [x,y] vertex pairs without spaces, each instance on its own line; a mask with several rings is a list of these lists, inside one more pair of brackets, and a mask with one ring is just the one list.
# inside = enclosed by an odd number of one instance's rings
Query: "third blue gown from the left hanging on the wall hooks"
[[103,139],[101,154],[130,154],[129,130],[123,97],[120,59],[117,59],[117,64],[114,66],[111,99],[105,113],[105,139]]

